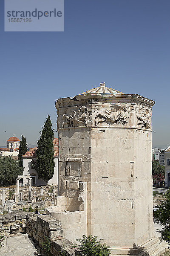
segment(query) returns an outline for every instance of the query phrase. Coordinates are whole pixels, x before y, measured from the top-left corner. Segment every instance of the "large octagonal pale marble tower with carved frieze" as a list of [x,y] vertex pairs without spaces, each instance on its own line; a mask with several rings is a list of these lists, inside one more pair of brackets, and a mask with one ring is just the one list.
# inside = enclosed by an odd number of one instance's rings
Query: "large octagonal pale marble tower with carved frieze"
[[[154,103],[138,94],[105,87],[105,83],[56,101],[58,196],[65,198],[66,211],[81,211],[80,183],[87,183],[82,232],[104,239],[112,254],[129,254],[131,249],[137,254],[140,250],[136,248],[148,241],[154,244]],[[81,231],[77,232],[75,238],[81,238]]]

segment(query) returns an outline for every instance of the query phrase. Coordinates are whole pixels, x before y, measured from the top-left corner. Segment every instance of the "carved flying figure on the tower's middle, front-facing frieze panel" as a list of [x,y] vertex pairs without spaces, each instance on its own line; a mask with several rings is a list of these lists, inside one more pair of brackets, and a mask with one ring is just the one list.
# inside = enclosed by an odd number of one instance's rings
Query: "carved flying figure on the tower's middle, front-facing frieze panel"
[[114,105],[106,111],[99,111],[96,114],[96,123],[98,126],[102,122],[111,122],[125,125],[129,121],[129,107],[127,105]]

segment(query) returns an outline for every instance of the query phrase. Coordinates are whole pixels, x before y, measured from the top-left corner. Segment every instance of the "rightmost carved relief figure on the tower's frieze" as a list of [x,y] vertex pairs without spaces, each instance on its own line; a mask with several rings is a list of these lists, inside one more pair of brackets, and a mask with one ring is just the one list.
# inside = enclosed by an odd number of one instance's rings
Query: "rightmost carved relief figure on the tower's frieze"
[[139,113],[136,113],[137,125],[140,128],[151,128],[151,111],[147,108],[140,109]]

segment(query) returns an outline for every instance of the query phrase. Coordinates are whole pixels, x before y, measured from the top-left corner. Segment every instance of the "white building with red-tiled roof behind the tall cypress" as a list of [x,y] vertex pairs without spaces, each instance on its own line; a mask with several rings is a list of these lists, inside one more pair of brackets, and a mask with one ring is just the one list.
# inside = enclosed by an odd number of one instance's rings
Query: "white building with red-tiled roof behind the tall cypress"
[[[48,181],[48,185],[57,185],[58,184],[58,139],[54,138],[54,175],[51,180]],[[23,175],[19,176],[20,182],[23,183],[23,186],[28,185],[28,177],[32,178],[32,186],[42,186],[46,185],[46,181],[39,179],[37,171],[35,170],[36,163],[36,149],[31,148],[26,154],[23,155]]]

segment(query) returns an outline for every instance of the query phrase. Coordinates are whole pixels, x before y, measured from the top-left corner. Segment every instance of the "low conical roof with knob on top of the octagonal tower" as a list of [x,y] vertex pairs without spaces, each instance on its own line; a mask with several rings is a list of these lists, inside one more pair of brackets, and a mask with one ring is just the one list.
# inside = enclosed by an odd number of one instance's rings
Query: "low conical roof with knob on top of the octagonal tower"
[[[108,94],[124,94],[119,92],[118,90],[115,90],[113,88],[109,88],[109,87],[105,87],[106,83],[100,83],[99,87],[87,90],[84,93],[80,93],[80,94],[85,94],[85,93],[108,93]],[[79,95],[80,95],[79,94]]]

